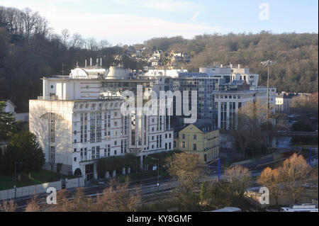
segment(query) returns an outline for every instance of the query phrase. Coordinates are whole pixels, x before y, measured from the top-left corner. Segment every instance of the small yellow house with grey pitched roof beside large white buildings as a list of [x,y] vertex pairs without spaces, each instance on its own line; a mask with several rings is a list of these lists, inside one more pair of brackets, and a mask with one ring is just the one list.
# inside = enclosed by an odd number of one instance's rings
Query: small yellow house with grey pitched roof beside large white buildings
[[212,120],[197,120],[175,130],[174,148],[200,154],[205,162],[209,162],[219,157],[219,130],[215,129]]

